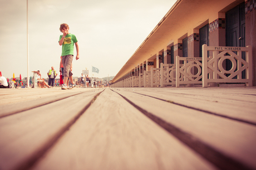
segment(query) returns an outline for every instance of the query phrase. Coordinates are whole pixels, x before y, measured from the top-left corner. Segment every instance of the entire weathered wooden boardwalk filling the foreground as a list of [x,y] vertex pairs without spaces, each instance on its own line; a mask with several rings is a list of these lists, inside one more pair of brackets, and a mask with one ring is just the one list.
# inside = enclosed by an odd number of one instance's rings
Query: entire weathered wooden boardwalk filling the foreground
[[0,89],[0,169],[256,169],[255,87]]

